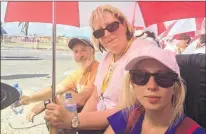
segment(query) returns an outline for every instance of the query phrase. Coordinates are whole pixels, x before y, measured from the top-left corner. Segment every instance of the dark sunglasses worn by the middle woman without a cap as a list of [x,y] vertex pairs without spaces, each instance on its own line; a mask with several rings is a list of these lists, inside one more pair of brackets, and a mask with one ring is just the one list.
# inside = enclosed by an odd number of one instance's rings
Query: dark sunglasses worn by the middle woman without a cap
[[107,30],[110,33],[116,31],[119,28],[119,22],[118,21],[114,21],[112,23],[110,23],[109,25],[107,25],[106,28],[104,29],[98,29],[96,31],[93,32],[93,35],[96,39],[99,39],[101,37],[104,36],[104,31]]

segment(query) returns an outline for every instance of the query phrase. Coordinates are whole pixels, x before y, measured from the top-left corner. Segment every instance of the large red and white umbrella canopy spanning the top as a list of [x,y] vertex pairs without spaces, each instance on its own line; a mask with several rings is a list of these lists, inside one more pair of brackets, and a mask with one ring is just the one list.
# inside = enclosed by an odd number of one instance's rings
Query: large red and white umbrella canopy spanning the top
[[[101,4],[119,8],[136,27],[205,17],[205,2],[56,2],[56,23],[88,26],[91,12]],[[5,22],[51,23],[51,13],[52,2],[8,2]]]

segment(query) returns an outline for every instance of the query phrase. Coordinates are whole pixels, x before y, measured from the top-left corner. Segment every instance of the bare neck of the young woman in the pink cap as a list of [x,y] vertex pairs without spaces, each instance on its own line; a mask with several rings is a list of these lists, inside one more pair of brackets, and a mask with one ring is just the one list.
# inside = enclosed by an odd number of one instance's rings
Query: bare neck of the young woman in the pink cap
[[145,121],[155,127],[168,127],[172,117],[172,104],[159,111],[145,110]]

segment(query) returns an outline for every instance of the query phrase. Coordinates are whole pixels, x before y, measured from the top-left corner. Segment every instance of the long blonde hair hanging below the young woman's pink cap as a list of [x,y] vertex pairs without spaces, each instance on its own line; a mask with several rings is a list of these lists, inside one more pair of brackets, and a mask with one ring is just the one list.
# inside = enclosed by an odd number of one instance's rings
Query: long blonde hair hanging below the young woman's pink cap
[[[173,106],[173,115],[170,124],[172,124],[176,119],[178,119],[184,112],[183,104],[185,100],[186,88],[180,76],[178,77],[178,80],[179,81],[175,82],[173,85],[174,95],[171,100]],[[130,79],[130,74],[128,72],[124,77],[124,86],[122,94],[119,98],[118,107],[120,109],[129,109],[136,104],[138,104],[138,100],[136,98],[136,93]]]

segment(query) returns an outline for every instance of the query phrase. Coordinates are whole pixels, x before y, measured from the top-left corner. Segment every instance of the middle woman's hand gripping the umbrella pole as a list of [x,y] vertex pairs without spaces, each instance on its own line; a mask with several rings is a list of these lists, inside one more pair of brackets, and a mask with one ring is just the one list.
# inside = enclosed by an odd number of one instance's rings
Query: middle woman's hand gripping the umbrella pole
[[60,104],[59,98],[56,97],[56,104],[52,102],[46,105],[44,119],[50,126],[56,128],[71,128],[73,115],[64,105]]

